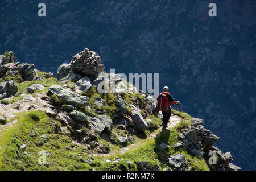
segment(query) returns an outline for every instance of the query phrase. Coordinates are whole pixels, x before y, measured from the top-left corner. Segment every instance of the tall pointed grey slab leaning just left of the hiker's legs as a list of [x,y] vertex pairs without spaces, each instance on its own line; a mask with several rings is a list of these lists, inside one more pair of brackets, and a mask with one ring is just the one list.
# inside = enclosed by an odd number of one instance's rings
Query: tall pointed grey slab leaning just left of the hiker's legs
[[141,131],[146,131],[148,126],[144,121],[144,118],[141,115],[141,110],[139,110],[134,105],[130,105],[131,107],[131,119],[133,119],[134,128]]

